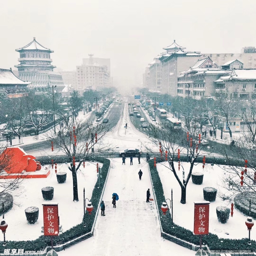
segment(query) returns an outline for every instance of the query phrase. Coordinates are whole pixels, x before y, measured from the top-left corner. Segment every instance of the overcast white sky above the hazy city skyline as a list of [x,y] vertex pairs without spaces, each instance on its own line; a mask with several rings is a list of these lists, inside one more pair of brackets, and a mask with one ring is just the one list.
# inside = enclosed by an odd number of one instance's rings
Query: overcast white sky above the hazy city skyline
[[75,70],[92,53],[111,59],[115,84],[136,87],[174,39],[202,53],[256,46],[255,7],[251,0],[2,0],[0,68],[17,65],[15,49],[36,37],[54,50],[57,68]]

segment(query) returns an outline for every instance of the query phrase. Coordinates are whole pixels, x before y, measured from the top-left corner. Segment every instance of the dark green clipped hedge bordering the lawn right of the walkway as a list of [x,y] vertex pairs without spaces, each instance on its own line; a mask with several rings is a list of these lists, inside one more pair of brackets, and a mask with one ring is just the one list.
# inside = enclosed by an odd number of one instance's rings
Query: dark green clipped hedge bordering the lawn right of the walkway
[[[156,195],[156,201],[158,205],[158,212],[160,216],[160,221],[162,224],[163,232],[175,236],[179,239],[185,240],[187,242],[199,245],[200,239],[199,236],[195,236],[191,230],[185,229],[178,225],[174,224],[174,228],[172,228],[170,221],[170,213],[167,212],[166,215],[162,214],[161,206],[162,202],[165,201],[164,190],[161,183],[161,179],[157,172],[157,168],[154,167],[154,159],[149,161],[150,173],[153,181],[153,188]],[[174,209],[175,210],[175,209]],[[193,213],[192,213],[193,214]],[[251,241],[252,245],[248,246],[248,238],[243,239],[220,239],[217,235],[209,233],[208,236],[202,237],[202,242],[207,244],[212,250],[226,249],[226,250],[245,250],[256,248],[256,242],[254,240]]]

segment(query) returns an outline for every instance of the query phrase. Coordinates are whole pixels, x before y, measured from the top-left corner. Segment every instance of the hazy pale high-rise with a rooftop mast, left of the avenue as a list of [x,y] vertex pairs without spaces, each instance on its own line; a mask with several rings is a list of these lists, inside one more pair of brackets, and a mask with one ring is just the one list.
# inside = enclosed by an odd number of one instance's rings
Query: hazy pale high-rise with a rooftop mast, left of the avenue
[[92,58],[93,54],[89,54],[89,56],[88,64],[77,66],[77,89],[84,91],[88,88],[100,90],[110,87],[111,79],[108,66],[95,63]]

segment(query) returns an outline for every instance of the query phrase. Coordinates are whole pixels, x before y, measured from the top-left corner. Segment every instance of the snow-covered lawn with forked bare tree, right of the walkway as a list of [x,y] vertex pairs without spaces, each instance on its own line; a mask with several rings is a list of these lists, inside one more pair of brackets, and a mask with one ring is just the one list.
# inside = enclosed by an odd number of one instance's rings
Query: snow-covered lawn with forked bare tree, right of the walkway
[[[189,163],[182,163],[186,170],[189,169]],[[187,185],[186,193],[186,204],[180,203],[181,197],[181,188],[174,177],[173,172],[165,167],[168,166],[168,163],[164,162],[163,164],[157,164],[157,170],[163,184],[164,196],[165,198],[171,198],[171,189],[173,189],[173,220],[174,223],[180,225],[184,228],[187,228],[191,231],[194,230],[194,201],[204,201],[203,188],[204,187],[214,187],[222,193],[225,193],[225,188],[223,188],[223,173],[225,172],[221,167],[210,164],[206,164],[204,170],[202,164],[199,163],[193,168],[193,172],[202,172],[204,173],[204,180],[202,185],[195,185],[192,183],[190,178]],[[175,163],[175,168],[178,170],[178,163]],[[193,173],[192,172],[192,173]],[[179,177],[182,178],[182,168],[180,168]],[[240,182],[240,181],[238,181]],[[169,204],[169,200],[167,201]],[[229,220],[226,224],[221,224],[218,222],[216,207],[217,206],[226,206],[231,208],[231,204],[226,200],[222,201],[220,197],[216,197],[215,202],[210,203],[210,212],[209,212],[209,232],[218,235],[220,238],[232,238],[232,239],[241,239],[248,237],[248,230],[245,225],[247,216],[244,216],[242,213],[236,210],[234,207],[233,217],[229,217]],[[254,221],[255,222],[255,221]],[[229,234],[226,234],[229,233]],[[251,232],[251,239],[256,240],[256,232]]]

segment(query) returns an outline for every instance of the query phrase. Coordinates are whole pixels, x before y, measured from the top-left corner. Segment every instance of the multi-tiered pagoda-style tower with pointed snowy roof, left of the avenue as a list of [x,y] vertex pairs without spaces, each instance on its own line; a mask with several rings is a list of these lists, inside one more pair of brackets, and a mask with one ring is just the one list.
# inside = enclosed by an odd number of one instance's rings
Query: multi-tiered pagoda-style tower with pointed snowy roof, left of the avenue
[[53,85],[58,92],[62,91],[64,83],[61,74],[54,72],[56,66],[51,64],[50,54],[54,51],[39,44],[35,37],[29,44],[16,51],[20,54],[20,64],[15,67],[18,68],[20,79],[31,82],[28,87],[43,92]]

